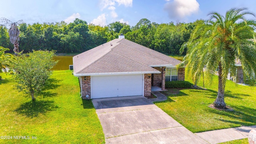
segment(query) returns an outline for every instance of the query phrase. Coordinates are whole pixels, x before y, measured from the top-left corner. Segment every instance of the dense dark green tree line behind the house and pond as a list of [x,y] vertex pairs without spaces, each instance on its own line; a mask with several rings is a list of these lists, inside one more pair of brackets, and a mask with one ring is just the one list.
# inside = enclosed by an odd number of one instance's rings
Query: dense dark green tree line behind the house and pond
[[[200,22],[193,23],[170,22],[157,24],[144,18],[135,26],[126,23],[113,22],[108,26],[88,24],[76,18],[72,23],[22,23],[20,30],[20,50],[25,53],[32,50],[56,50],[57,53],[80,53],[90,50],[100,44],[118,38],[125,38],[164,54],[179,54],[184,42],[190,38],[194,27]],[[9,48],[12,52],[8,29],[0,26],[0,46]],[[185,52],[184,52],[185,54]]]

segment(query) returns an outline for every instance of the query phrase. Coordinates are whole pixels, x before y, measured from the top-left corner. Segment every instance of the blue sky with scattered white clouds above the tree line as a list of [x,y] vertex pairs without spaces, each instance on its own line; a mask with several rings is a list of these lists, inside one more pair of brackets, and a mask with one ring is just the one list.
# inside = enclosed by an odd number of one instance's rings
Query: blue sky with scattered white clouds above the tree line
[[256,14],[256,0],[0,0],[0,18],[27,24],[79,18],[100,26],[116,21],[135,26],[142,18],[158,24],[206,20],[210,12],[224,15],[230,8]]

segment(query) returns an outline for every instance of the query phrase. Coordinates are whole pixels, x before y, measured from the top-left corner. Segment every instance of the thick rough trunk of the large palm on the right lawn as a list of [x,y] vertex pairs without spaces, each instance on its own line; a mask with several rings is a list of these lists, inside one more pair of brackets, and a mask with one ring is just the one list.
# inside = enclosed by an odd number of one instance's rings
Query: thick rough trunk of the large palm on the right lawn
[[222,79],[222,67],[219,64],[219,70],[218,70],[218,95],[216,100],[213,102],[214,107],[224,109],[226,107],[226,103],[224,102],[224,91],[225,91],[225,84]]

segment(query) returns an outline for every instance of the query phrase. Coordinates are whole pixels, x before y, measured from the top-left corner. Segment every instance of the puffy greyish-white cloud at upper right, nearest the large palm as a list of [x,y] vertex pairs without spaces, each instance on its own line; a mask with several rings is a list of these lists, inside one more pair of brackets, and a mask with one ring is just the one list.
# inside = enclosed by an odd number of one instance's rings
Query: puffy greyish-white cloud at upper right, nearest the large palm
[[[170,1],[170,0],[166,0]],[[199,3],[196,0],[172,0],[164,5],[169,18],[184,18],[198,12]]]

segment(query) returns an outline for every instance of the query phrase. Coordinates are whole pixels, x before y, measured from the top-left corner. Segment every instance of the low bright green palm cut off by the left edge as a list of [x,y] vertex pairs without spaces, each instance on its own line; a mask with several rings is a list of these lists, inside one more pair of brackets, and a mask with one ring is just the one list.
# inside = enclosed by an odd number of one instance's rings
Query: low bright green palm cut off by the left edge
[[12,54],[6,54],[5,51],[10,50],[9,48],[4,48],[0,46],[0,72],[2,69],[6,68],[6,66],[10,66],[10,63],[13,61],[14,57]]

